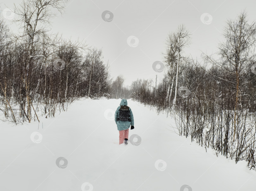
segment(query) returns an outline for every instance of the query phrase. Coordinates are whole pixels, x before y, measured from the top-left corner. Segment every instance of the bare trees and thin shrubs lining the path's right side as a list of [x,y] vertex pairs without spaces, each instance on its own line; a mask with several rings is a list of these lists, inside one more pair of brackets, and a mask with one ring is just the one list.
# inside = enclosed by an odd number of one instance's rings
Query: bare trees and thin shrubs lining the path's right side
[[[175,118],[172,131],[190,137],[201,146],[215,149],[227,158],[256,162],[256,24],[242,12],[228,20],[227,40],[215,55],[203,53],[204,62],[186,56],[190,33],[184,25],[169,34],[163,54],[164,78],[137,80],[133,98],[167,111]],[[209,67],[210,65],[210,67]]]

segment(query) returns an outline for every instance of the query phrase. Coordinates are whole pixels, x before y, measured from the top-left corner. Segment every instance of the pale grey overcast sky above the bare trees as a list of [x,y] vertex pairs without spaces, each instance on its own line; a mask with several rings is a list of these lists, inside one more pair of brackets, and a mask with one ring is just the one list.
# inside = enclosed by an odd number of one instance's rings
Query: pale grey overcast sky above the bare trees
[[[1,10],[19,2],[4,0]],[[200,61],[202,52],[213,53],[224,41],[222,31],[227,19],[234,19],[243,9],[250,21],[256,19],[255,5],[253,0],[70,0],[65,14],[52,20],[52,32],[74,40],[79,37],[90,46],[102,48],[104,61],[111,64],[111,76],[115,79],[121,74],[125,85],[130,85],[137,78],[162,76],[164,71],[155,72],[152,64],[163,62],[168,33],[178,25],[184,24],[192,33],[186,53]],[[102,19],[106,10],[113,14],[113,20],[106,15],[110,22]]]

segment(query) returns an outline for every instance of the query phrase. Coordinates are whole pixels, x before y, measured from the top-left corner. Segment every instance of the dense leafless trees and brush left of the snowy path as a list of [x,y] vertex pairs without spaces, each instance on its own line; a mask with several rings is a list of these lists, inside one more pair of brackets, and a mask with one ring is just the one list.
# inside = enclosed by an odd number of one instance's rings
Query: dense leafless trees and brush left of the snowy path
[[50,34],[53,10],[66,0],[23,0],[12,33],[0,20],[0,116],[15,123],[54,116],[79,97],[109,97],[111,79],[102,51]]

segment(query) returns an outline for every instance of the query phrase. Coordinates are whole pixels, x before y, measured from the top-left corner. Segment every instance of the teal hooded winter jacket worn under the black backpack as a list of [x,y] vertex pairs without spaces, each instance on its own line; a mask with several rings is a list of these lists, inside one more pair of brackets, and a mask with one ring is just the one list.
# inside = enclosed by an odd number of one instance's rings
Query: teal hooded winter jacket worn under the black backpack
[[134,120],[133,120],[133,114],[132,114],[131,108],[129,108],[129,110],[130,110],[129,118],[131,119],[131,121],[117,121],[121,105],[127,105],[127,100],[126,99],[121,100],[120,106],[117,108],[116,113],[115,113],[115,122],[117,124],[118,131],[126,130],[126,129],[129,129],[130,126],[134,126]]

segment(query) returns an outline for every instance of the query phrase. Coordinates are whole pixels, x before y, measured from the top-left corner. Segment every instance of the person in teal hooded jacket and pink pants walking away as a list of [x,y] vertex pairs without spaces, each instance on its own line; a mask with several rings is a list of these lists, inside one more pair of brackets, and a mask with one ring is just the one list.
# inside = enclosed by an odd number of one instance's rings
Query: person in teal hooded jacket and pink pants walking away
[[127,144],[129,128],[134,129],[134,120],[131,108],[127,106],[127,100],[122,99],[120,106],[115,113],[115,122],[119,131],[119,145],[122,143]]

